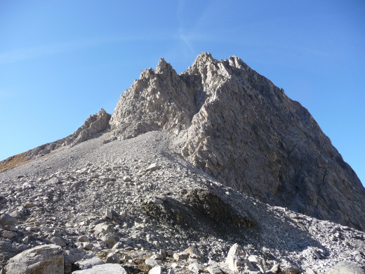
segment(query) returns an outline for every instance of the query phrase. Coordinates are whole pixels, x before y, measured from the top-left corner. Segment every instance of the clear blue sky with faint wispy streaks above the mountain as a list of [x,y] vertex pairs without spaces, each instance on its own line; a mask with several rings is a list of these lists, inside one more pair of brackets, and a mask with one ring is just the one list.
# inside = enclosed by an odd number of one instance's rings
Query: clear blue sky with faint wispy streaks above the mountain
[[0,1],[0,159],[112,113],[141,70],[239,56],[365,183],[365,1]]

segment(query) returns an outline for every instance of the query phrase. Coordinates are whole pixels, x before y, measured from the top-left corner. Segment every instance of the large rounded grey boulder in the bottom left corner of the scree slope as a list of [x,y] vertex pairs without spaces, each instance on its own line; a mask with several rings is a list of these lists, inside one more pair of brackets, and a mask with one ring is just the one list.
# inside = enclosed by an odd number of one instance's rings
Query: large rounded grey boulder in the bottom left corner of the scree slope
[[6,273],[64,273],[62,248],[47,244],[27,249],[8,261]]

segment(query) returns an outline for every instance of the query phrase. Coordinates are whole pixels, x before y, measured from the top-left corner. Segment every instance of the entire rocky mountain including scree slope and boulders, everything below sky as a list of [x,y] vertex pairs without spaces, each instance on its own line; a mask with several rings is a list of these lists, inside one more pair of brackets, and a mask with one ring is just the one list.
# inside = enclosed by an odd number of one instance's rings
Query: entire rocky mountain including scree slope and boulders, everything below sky
[[365,273],[364,197],[241,59],[162,58],[112,115],[0,162],[0,273]]

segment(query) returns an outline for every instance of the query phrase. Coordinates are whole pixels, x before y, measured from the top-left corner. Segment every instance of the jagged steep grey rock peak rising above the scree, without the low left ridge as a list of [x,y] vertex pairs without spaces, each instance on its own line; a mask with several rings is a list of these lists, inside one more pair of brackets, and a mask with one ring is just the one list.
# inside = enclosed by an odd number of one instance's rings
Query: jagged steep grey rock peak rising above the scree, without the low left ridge
[[182,155],[259,200],[365,230],[365,190],[300,103],[241,59],[201,53],[178,75],[161,59],[121,95],[110,120],[127,138],[164,129]]

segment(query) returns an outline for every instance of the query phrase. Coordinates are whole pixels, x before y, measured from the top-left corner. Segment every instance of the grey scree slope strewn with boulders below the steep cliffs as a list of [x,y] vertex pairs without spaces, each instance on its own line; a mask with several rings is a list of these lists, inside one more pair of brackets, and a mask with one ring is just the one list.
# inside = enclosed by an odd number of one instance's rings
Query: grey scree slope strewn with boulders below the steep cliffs
[[0,174],[0,273],[364,273],[365,233],[272,207],[112,132]]

